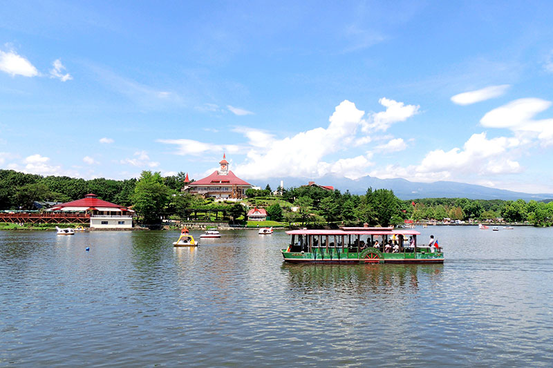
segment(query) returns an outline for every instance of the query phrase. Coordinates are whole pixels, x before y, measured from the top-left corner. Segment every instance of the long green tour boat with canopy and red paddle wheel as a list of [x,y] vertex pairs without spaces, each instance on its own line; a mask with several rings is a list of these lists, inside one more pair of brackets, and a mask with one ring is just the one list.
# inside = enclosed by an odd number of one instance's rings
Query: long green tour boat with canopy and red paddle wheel
[[285,262],[291,263],[443,263],[438,242],[417,243],[418,231],[393,227],[342,227],[292,230]]

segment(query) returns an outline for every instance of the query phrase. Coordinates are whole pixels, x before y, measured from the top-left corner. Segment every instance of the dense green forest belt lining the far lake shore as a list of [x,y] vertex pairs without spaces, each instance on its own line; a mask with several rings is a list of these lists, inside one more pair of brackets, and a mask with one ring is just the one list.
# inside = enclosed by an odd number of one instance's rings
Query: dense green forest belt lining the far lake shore
[[[144,171],[138,179],[93,180],[66,176],[46,176],[0,170],[0,210],[32,210],[36,202],[68,202],[87,193],[102,200],[133,206],[144,223],[160,222],[163,218],[186,220],[214,212],[216,220],[236,222],[245,217],[251,206],[264,207],[272,220],[298,223],[302,226],[324,224],[388,226],[412,220],[497,220],[529,222],[551,226],[553,202],[523,200],[468,200],[467,198],[427,198],[399,200],[392,191],[368,188],[364,195],[348,191],[326,191],[312,186],[279,188],[273,195],[269,185],[264,190],[248,190],[242,203],[215,202],[183,194],[185,175],[162,177],[160,173]],[[222,217],[217,217],[222,213]],[[194,215],[194,216],[193,216]],[[207,220],[213,220],[207,217]]]

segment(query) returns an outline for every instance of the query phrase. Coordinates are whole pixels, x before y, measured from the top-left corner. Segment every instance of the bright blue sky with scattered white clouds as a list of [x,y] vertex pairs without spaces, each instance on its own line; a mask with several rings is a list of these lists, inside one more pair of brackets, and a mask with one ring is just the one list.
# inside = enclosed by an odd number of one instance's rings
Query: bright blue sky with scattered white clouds
[[0,168],[553,193],[550,1],[0,9]]

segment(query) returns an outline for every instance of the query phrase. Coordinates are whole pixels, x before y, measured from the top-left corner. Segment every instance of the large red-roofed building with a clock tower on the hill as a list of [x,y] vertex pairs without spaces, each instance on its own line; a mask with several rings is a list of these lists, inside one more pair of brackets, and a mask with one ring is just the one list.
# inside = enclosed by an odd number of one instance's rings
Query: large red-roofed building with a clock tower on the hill
[[200,194],[204,197],[215,198],[234,198],[242,199],[245,197],[246,190],[252,188],[252,184],[241,180],[229,171],[229,163],[226,160],[226,155],[223,154],[223,159],[219,162],[221,169],[214,171],[208,177],[185,184],[182,191],[187,191],[191,194]]

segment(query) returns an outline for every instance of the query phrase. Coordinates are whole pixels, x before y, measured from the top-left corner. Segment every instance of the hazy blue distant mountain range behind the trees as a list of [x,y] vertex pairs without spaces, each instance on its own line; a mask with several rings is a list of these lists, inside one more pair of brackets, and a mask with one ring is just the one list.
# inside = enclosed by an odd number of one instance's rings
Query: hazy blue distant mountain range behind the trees
[[373,189],[391,189],[397,197],[402,200],[415,200],[419,198],[469,198],[471,200],[552,200],[553,193],[522,193],[505,191],[504,189],[489,188],[487,186],[465,184],[458,182],[433,182],[418,183],[409,182],[404,179],[378,179],[377,177],[364,176],[358,180],[350,180],[346,177],[325,176],[317,180],[298,177],[284,177],[281,179],[272,178],[266,181],[249,180],[248,182],[265,188],[267,184],[274,190],[283,180],[284,187],[297,187],[314,181],[319,185],[331,185],[339,189],[341,193],[349,190],[352,194],[364,194],[369,186]]

